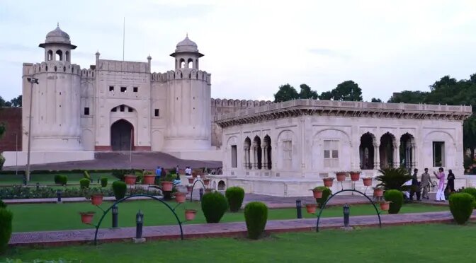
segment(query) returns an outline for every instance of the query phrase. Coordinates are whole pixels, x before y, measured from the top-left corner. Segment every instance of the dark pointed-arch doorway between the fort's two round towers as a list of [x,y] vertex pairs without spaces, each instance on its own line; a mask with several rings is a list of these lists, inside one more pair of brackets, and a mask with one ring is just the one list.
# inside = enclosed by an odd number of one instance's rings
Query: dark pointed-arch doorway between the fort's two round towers
[[113,151],[130,151],[134,127],[125,119],[119,119],[111,125],[111,148]]

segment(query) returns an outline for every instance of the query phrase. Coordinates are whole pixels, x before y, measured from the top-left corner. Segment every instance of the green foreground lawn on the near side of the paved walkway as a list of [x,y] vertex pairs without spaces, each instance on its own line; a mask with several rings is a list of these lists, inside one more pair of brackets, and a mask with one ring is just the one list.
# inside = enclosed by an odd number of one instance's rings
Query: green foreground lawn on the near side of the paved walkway
[[[284,233],[262,240],[203,238],[46,249],[10,249],[4,257],[75,262],[474,262],[476,226],[427,224],[350,232]],[[2,257],[0,257],[1,260]]]

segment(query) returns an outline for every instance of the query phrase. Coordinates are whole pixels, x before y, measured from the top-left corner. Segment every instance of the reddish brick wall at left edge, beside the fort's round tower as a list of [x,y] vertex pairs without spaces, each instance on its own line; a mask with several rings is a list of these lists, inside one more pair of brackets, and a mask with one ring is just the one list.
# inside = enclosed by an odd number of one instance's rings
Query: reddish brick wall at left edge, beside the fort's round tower
[[0,123],[6,125],[6,132],[0,139],[0,152],[15,151],[15,134],[18,134],[18,151],[21,151],[21,107],[0,108]]

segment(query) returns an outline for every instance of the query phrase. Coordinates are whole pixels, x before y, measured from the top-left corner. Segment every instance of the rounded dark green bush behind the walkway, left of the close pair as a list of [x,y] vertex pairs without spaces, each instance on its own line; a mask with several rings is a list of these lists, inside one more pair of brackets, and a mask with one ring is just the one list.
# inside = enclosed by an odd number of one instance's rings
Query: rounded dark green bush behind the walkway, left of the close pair
[[203,194],[202,211],[207,223],[218,223],[228,210],[227,198],[220,192]]

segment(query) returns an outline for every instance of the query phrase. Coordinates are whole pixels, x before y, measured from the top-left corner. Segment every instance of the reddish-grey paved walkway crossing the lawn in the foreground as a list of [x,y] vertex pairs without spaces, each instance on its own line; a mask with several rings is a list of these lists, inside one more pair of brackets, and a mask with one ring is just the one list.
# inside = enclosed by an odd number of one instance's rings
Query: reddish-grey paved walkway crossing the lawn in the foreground
[[[385,214],[381,218],[384,226],[408,223],[443,223],[453,220],[450,212]],[[472,218],[476,218],[476,212],[473,212]],[[311,231],[315,230],[316,222],[316,219],[273,220],[266,224],[266,232]],[[350,223],[351,226],[378,226],[378,217],[375,215],[351,216]],[[319,222],[319,229],[339,228],[340,226],[342,226],[341,217],[322,218]],[[95,229],[13,233],[10,245],[79,244],[94,240],[94,231]],[[147,240],[180,238],[179,226],[147,226],[143,233]],[[184,238],[244,236],[246,235],[246,225],[244,222],[183,225],[183,235]],[[98,232],[99,242],[131,240],[133,237],[135,237],[135,228],[101,229]]]

